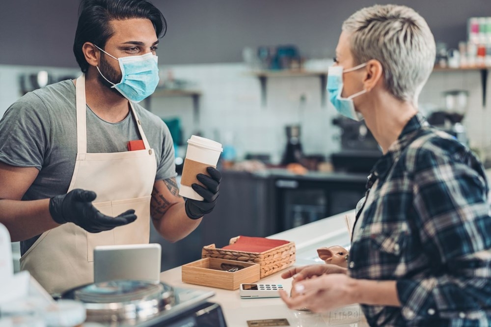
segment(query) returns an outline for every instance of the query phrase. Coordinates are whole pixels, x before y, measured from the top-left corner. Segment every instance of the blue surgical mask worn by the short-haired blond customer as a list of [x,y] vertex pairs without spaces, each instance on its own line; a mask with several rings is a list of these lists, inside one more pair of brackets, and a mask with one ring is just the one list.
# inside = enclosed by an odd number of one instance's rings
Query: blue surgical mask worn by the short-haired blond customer
[[337,112],[356,121],[362,120],[363,116],[355,110],[353,98],[366,93],[366,90],[359,91],[347,98],[343,98],[341,96],[341,93],[343,92],[343,73],[351,72],[364,66],[366,66],[366,63],[345,70],[343,70],[343,67],[341,66],[332,66],[329,67],[327,71],[327,92],[329,92],[329,100],[334,108],[336,108]]

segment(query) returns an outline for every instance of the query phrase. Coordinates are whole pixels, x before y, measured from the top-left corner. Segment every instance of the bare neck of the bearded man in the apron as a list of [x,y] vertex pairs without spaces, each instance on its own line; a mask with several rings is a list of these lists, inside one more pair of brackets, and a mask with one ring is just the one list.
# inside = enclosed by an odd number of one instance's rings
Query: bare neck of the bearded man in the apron
[[99,82],[98,72],[85,74],[85,102],[101,119],[118,123],[129,113],[129,102],[120,94],[115,93]]

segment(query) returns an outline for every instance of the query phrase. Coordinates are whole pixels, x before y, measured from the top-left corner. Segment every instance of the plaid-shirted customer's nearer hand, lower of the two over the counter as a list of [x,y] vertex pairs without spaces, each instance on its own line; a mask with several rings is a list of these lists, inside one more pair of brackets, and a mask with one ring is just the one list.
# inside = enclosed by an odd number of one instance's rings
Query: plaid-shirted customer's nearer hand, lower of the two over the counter
[[[309,272],[313,272],[313,268],[309,268]],[[290,309],[306,308],[313,312],[324,312],[356,303],[355,279],[345,273],[328,273],[317,276],[296,281],[292,285],[292,291],[295,291],[294,297],[289,297],[283,290],[279,291],[281,299]]]

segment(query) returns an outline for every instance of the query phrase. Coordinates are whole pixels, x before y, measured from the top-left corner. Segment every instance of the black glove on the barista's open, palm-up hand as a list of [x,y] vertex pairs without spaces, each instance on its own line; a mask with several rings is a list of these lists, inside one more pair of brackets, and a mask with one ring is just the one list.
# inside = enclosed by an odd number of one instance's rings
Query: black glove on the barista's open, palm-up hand
[[59,224],[73,222],[87,232],[99,233],[135,221],[135,210],[130,209],[117,217],[103,215],[93,205],[96,198],[93,191],[75,189],[50,199],[50,214]]

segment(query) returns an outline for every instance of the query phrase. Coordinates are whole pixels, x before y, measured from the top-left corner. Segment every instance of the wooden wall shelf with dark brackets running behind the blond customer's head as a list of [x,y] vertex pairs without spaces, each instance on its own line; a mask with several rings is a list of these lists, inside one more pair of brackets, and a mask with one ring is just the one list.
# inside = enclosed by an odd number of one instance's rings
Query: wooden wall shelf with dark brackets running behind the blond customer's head
[[[433,68],[433,72],[458,72],[458,71],[480,71],[481,72],[481,85],[483,91],[483,108],[486,107],[486,90],[488,82],[488,70],[491,67],[463,67],[463,68],[449,68],[438,67]],[[261,83],[261,103],[263,107],[266,107],[267,103],[267,80],[268,78],[282,78],[282,77],[318,77],[321,82],[321,105],[326,106],[326,86],[327,86],[327,71],[308,71],[308,70],[258,70],[248,73],[255,76]]]

